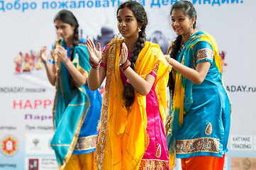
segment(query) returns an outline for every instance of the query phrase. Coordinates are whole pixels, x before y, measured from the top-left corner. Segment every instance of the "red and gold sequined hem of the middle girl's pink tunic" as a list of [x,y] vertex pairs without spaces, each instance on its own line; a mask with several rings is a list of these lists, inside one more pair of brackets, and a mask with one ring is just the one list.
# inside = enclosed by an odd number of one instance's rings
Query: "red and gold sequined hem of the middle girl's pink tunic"
[[169,162],[158,159],[142,159],[138,170],[165,170],[169,169]]

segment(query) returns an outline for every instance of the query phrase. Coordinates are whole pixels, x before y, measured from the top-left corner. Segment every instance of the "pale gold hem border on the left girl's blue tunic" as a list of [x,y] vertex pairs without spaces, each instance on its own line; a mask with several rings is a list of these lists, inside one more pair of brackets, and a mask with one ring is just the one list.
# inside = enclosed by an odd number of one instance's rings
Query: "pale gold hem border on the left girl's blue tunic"
[[91,135],[88,137],[79,137],[77,140],[77,145],[74,150],[89,150],[96,147],[97,135]]

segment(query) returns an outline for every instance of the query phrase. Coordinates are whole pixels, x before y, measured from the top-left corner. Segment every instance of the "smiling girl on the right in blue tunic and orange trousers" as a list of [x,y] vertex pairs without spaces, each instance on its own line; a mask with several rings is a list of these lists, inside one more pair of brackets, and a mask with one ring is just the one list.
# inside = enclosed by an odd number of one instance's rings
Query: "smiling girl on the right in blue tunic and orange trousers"
[[170,166],[181,158],[182,169],[223,169],[228,152],[231,103],[223,83],[215,40],[196,27],[189,1],[172,6],[171,24],[177,39],[167,62],[172,102],[166,124]]

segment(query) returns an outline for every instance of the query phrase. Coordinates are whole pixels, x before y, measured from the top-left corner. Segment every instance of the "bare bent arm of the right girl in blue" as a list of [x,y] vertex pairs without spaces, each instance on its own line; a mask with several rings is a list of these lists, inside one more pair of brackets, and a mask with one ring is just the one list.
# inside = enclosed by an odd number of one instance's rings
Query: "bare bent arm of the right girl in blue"
[[169,62],[169,64],[171,64],[177,72],[182,74],[182,76],[186,77],[195,84],[201,84],[204,81],[211,66],[210,62],[200,62],[196,65],[196,69],[191,69],[170,57],[167,58],[167,62]]

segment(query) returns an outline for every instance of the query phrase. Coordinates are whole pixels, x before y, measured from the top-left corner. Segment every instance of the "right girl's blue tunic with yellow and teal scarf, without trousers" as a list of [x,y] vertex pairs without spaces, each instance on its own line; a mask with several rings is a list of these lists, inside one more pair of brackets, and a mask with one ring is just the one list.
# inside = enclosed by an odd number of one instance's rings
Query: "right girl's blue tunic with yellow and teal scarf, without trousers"
[[211,67],[201,84],[172,71],[175,88],[167,120],[170,166],[174,166],[175,157],[222,157],[228,152],[231,103],[215,40],[201,31],[191,35],[177,61],[192,69],[206,61]]

